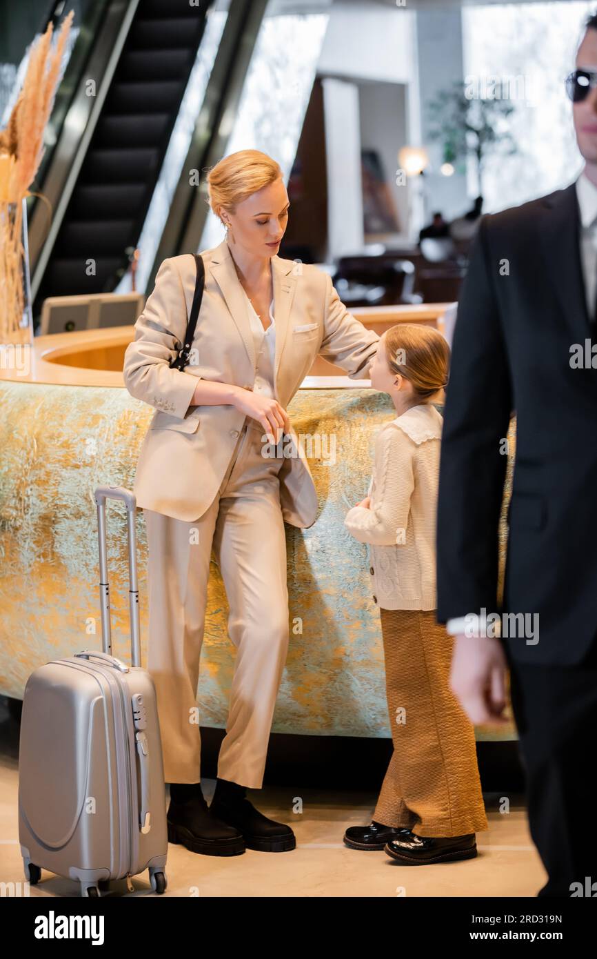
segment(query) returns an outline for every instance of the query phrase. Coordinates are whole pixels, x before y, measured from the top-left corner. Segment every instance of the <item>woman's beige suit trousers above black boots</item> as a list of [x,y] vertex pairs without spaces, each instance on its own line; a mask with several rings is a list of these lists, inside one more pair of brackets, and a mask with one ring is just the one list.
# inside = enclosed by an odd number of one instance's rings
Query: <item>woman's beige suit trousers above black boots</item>
[[247,416],[218,494],[195,521],[144,509],[148,669],[157,692],[167,783],[200,779],[196,692],[213,550],[230,610],[228,635],[237,650],[218,777],[251,788],[263,784],[289,635],[278,480],[283,459],[261,455],[263,433]]

